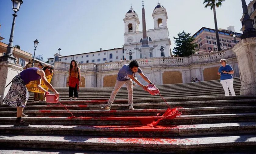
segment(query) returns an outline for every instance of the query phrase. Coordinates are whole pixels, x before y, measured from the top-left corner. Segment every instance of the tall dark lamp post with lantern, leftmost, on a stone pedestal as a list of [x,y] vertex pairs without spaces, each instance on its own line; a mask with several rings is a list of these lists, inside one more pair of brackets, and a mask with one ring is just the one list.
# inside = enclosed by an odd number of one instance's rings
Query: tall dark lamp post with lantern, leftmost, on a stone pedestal
[[16,15],[16,13],[19,11],[20,5],[22,3],[23,3],[22,0],[12,0],[12,10],[14,11],[14,14],[12,14],[13,15],[13,20],[12,20],[11,35],[10,35],[10,38],[9,38],[9,44],[7,46],[7,49],[6,49],[6,55],[2,56],[0,61],[8,61],[8,62],[11,62],[11,63],[15,63],[16,58],[14,58],[13,54],[12,54],[13,33],[14,33],[15,18],[16,18],[16,16],[18,16],[18,15]]

